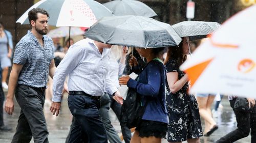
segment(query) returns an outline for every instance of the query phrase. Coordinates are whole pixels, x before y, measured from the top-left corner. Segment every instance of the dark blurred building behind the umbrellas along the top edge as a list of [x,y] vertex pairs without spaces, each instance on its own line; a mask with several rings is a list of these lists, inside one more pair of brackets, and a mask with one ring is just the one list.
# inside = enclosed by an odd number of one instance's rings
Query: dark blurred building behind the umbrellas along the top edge
[[[150,6],[157,14],[155,19],[175,24],[186,19],[186,3],[188,0],[140,0]],[[191,20],[216,21],[222,23],[234,13],[256,4],[256,0],[193,0],[195,2],[195,18]],[[38,0],[0,0],[0,21],[13,35],[14,44],[22,38],[29,25],[20,25],[15,21]],[[99,3],[110,0],[97,0]]]

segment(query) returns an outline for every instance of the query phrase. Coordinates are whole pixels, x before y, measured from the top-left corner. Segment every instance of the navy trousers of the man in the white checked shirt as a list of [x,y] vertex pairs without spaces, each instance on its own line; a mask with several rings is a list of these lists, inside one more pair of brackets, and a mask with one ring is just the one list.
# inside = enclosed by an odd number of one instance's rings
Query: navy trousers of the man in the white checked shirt
[[75,117],[69,143],[108,143],[99,115],[100,100],[84,95],[69,95],[68,104]]

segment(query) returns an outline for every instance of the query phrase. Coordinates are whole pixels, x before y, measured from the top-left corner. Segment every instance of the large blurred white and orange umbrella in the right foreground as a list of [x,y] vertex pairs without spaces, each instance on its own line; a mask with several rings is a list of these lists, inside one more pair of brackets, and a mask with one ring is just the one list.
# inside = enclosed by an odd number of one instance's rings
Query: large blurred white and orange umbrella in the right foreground
[[255,13],[256,5],[231,17],[181,66],[191,92],[256,97]]

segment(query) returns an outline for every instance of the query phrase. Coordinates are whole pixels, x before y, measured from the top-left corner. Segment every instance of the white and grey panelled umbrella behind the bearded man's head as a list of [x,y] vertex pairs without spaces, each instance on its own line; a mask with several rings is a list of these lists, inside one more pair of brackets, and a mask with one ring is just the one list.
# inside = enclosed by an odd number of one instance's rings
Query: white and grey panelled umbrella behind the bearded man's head
[[93,0],[41,0],[16,22],[29,24],[28,12],[33,8],[45,9],[50,15],[48,23],[55,26],[89,27],[103,16],[113,16],[109,9]]

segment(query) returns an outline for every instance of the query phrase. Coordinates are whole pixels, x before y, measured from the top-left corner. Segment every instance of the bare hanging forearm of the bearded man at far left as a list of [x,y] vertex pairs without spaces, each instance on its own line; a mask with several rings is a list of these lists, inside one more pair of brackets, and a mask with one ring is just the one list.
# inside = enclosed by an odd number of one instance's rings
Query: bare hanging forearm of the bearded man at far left
[[8,88],[7,99],[5,103],[5,111],[9,115],[12,115],[12,112],[14,110],[13,96],[14,96],[16,83],[18,80],[18,75],[22,70],[22,68],[23,68],[23,65],[13,64],[12,70],[10,73],[9,84],[8,84],[9,88]]

